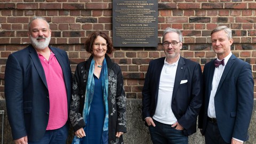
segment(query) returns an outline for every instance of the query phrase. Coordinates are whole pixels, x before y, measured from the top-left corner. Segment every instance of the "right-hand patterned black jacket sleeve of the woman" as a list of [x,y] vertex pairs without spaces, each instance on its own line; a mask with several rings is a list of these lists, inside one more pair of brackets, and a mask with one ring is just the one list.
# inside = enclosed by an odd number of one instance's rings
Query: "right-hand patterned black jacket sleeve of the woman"
[[117,132],[126,133],[126,97],[124,91],[124,79],[121,68],[117,66],[117,92],[116,92],[116,105],[117,105]]

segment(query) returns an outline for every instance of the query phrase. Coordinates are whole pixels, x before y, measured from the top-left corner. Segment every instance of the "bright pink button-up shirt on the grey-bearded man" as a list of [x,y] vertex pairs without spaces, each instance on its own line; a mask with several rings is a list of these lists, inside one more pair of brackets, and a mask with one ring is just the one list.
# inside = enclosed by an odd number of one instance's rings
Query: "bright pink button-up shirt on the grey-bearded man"
[[44,68],[50,99],[49,122],[46,130],[59,129],[68,119],[68,102],[62,69],[55,54],[51,52],[49,61],[42,54],[38,57]]

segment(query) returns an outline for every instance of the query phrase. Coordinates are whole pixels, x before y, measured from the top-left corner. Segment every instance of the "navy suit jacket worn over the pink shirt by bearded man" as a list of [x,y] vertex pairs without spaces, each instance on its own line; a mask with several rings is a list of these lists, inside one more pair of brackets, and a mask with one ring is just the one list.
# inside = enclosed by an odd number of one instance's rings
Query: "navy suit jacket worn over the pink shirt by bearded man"
[[[60,63],[69,103],[72,76],[68,56],[63,50],[50,48]],[[7,59],[5,100],[13,139],[28,135],[29,141],[40,140],[46,131],[50,102],[44,69],[31,45]]]

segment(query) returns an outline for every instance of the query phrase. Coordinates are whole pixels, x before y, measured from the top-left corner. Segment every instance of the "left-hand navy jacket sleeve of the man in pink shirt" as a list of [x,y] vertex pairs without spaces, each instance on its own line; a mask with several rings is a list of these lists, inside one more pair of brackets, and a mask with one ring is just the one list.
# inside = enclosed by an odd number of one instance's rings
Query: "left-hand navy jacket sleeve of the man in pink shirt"
[[17,58],[9,55],[5,68],[5,100],[13,139],[27,135],[23,111],[23,74]]

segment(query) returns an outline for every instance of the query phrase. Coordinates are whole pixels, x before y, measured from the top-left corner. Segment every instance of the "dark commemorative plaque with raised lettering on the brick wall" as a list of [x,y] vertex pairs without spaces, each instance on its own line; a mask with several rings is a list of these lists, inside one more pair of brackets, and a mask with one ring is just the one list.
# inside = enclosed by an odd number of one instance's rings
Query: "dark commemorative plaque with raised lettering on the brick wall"
[[113,46],[157,47],[157,0],[113,0]]

